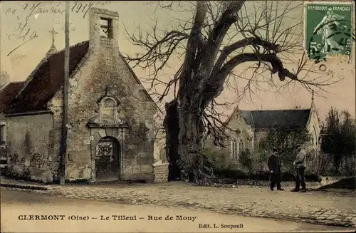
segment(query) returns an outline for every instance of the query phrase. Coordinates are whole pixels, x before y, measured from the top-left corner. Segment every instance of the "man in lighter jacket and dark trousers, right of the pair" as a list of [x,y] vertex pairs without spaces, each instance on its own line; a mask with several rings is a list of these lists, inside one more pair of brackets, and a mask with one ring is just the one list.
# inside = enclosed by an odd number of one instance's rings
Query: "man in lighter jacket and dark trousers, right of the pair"
[[[305,159],[306,159],[306,153],[301,147],[301,145],[297,145],[296,149],[298,151],[297,157],[295,157],[295,161],[293,162],[293,165],[295,166],[295,189],[292,190],[292,192],[306,192],[306,187],[305,187]],[[302,185],[302,189],[300,190],[299,187]]]

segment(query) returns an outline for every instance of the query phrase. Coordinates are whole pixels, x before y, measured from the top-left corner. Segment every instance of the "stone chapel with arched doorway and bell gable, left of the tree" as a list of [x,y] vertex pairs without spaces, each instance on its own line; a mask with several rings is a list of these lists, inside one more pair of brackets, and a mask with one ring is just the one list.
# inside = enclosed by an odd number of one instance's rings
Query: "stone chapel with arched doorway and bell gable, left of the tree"
[[[154,180],[152,98],[119,51],[118,14],[90,9],[89,41],[70,47],[68,180]],[[58,180],[64,51],[52,45],[6,107],[9,171]]]

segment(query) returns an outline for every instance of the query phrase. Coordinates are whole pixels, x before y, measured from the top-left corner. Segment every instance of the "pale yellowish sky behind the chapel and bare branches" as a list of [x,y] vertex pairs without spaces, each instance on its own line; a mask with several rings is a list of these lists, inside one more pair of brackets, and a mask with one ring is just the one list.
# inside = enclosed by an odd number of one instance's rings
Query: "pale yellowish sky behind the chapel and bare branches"
[[[34,11],[31,10],[33,5],[36,6]],[[57,32],[56,48],[58,51],[64,48],[64,1],[1,1],[0,6],[1,72],[9,73],[11,81],[24,81],[51,47],[52,27]],[[89,6],[118,12],[120,51],[132,56],[142,50],[132,45],[126,31],[133,33],[138,26],[143,30],[148,30],[155,19],[159,22],[157,26],[164,29],[169,27],[172,21],[184,17],[187,19],[194,14],[194,11],[172,14],[166,10],[156,9],[157,4],[150,4],[148,1],[72,1],[70,3],[72,9],[70,12],[70,45],[89,38],[89,14],[87,12]],[[303,21],[301,12],[303,9],[296,8],[290,14],[293,15],[294,20]],[[303,33],[303,26],[295,30]],[[325,88],[325,92],[318,92],[315,95],[315,105],[322,119],[331,107],[348,110],[355,117],[355,46],[353,46],[352,53],[353,57],[349,63],[340,61],[338,58],[330,58],[325,63],[327,71],[342,80]],[[167,68],[162,73],[162,79],[164,76],[172,76],[179,68],[180,62],[178,58],[173,59],[171,68]],[[149,74],[147,70],[139,68],[134,68],[134,71],[139,78]],[[278,77],[276,77],[277,82],[280,82]],[[147,84],[143,84],[148,88]],[[295,105],[300,105],[302,108],[310,107],[311,94],[308,90],[298,83],[288,89],[279,93],[258,91],[252,99],[246,98],[241,101],[239,108],[267,110],[288,109]],[[231,99],[234,96],[236,93],[224,90],[220,98]]]

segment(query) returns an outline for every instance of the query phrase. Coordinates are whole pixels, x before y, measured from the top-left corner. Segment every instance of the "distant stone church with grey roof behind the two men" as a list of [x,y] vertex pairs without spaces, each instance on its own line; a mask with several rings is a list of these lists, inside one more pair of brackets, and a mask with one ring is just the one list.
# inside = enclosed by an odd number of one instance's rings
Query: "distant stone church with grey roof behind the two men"
[[[263,138],[271,129],[305,128],[310,135],[310,142],[305,143],[307,150],[313,150],[316,156],[320,151],[320,122],[312,97],[310,108],[288,110],[239,110],[236,108],[226,120],[226,147],[219,148],[219,152],[238,160],[239,154],[248,149],[256,150]],[[214,145],[207,145],[214,147]]]

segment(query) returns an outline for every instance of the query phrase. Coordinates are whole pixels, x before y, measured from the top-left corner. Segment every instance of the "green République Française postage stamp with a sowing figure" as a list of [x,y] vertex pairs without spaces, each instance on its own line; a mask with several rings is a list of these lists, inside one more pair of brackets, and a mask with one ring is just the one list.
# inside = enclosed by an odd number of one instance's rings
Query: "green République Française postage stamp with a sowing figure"
[[310,60],[351,57],[352,4],[305,4],[305,49]]

